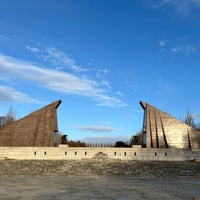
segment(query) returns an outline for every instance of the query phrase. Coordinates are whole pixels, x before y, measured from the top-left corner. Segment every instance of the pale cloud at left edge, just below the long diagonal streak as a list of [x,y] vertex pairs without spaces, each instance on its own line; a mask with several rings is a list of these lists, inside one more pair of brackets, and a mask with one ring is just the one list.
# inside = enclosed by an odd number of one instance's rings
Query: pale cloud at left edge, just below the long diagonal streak
[[20,91],[9,86],[0,85],[0,101],[1,102],[23,102],[23,103],[40,103],[39,101],[29,97]]

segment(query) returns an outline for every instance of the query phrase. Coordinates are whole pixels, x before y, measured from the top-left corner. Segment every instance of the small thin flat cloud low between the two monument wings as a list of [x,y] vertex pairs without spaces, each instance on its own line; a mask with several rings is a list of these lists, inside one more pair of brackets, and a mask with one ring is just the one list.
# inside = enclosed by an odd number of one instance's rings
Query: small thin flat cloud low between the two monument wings
[[116,128],[108,126],[77,126],[76,128],[82,131],[91,132],[112,132],[117,130]]

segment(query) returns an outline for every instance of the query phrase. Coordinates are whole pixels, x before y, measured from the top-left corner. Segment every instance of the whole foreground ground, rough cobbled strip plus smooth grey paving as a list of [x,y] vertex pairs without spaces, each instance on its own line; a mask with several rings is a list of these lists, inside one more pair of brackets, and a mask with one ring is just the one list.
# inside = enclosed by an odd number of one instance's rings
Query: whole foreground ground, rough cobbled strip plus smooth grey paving
[[0,160],[0,199],[200,200],[200,163]]

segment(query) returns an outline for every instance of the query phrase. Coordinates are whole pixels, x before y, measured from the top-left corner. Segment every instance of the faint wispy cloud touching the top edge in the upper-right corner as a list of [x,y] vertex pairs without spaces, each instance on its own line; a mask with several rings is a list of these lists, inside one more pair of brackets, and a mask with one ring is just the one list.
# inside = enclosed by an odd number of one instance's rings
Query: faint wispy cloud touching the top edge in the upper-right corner
[[160,0],[151,1],[151,7],[165,9],[182,16],[190,14],[193,10],[200,9],[200,0]]

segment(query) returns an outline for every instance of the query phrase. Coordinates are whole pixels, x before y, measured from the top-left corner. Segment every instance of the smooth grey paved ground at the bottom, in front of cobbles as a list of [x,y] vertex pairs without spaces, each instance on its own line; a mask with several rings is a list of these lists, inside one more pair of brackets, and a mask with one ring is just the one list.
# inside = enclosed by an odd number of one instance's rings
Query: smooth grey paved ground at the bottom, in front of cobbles
[[200,179],[128,176],[2,176],[1,200],[200,200]]

